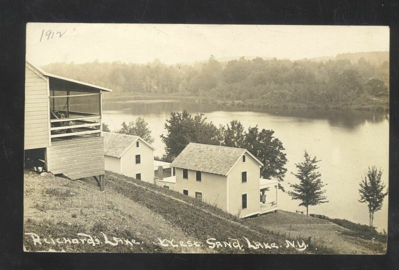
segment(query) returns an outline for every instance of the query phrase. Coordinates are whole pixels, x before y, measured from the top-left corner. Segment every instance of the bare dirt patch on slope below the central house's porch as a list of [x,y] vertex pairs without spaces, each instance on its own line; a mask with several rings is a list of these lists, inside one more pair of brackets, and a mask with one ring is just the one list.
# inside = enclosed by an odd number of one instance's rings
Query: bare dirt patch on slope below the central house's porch
[[338,254],[376,254],[384,244],[342,234],[347,231],[337,224],[306,215],[279,210],[247,220],[273,232],[292,237],[311,237],[312,243],[324,245]]

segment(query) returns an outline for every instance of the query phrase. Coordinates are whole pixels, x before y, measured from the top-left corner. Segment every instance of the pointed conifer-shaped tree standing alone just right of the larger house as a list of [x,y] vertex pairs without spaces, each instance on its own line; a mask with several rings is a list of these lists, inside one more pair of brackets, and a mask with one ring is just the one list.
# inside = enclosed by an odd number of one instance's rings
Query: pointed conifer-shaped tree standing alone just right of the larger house
[[325,190],[322,188],[326,185],[321,181],[321,174],[317,171],[316,156],[312,159],[308,152],[305,150],[305,161],[295,164],[298,168],[298,173],[294,174],[299,179],[300,184],[290,184],[294,191],[288,191],[288,195],[294,200],[300,200],[302,203],[299,206],[306,207],[306,215],[309,215],[309,206],[328,203],[327,198],[324,196]]

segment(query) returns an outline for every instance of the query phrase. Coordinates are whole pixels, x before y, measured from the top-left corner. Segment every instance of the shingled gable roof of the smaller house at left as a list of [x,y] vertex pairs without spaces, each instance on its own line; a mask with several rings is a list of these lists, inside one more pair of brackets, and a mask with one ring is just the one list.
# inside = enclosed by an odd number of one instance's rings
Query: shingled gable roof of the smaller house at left
[[151,144],[139,136],[120,134],[114,132],[103,132],[104,135],[104,155],[120,158],[137,140],[141,140],[151,149],[155,150]]

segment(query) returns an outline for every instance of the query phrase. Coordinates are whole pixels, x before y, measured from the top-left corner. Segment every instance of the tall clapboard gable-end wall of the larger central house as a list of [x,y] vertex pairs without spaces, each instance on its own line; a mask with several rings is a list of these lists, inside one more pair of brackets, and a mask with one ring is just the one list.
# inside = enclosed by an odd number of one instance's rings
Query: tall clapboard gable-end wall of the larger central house
[[[247,182],[241,183],[241,172],[247,172]],[[241,195],[247,194],[247,208],[241,209]],[[240,216],[259,212],[259,164],[246,154],[246,162],[240,159],[228,174],[228,212]]]

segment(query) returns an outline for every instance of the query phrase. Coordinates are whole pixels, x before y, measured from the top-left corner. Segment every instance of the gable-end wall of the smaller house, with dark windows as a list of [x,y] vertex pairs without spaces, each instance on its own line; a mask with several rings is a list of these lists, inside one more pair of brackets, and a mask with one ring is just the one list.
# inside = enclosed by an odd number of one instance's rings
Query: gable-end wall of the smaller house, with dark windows
[[[136,174],[140,173],[142,181],[154,183],[154,150],[141,139],[138,140],[139,147],[134,143],[121,157],[122,174],[136,178]],[[140,164],[136,164],[136,155],[140,155]]]

